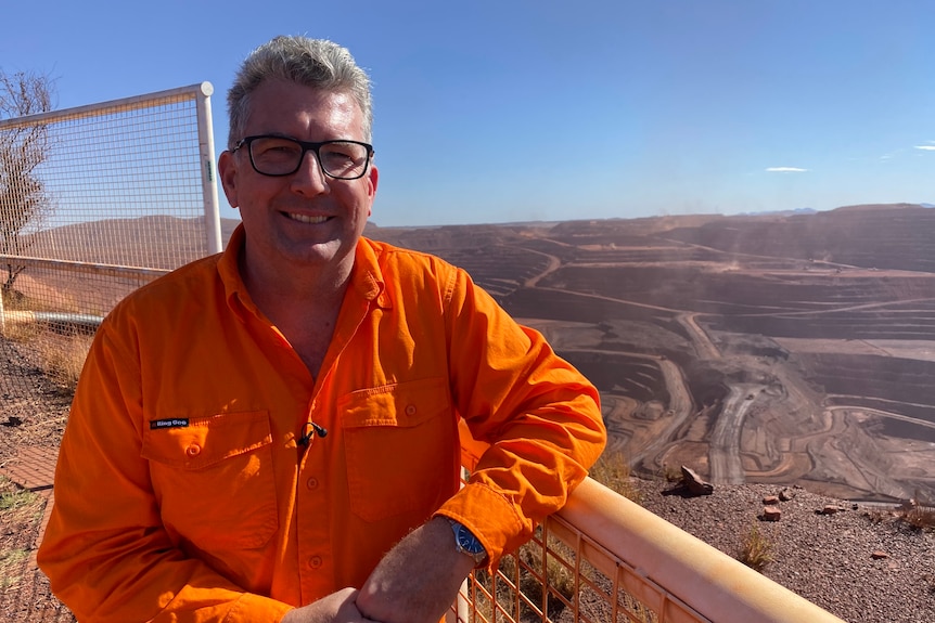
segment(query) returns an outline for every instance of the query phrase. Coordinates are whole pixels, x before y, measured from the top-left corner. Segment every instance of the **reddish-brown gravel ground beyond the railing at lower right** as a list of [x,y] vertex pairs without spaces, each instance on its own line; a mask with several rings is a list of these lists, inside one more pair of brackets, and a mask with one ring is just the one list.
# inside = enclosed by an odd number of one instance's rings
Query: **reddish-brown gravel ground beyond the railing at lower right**
[[[935,622],[935,532],[909,525],[893,506],[790,488],[773,522],[760,519],[763,499],[782,486],[715,485],[712,495],[681,497],[664,494],[671,483],[633,484],[644,508],[734,558],[756,527],[772,545],[764,575],[848,623]],[[822,515],[825,506],[843,510]]]

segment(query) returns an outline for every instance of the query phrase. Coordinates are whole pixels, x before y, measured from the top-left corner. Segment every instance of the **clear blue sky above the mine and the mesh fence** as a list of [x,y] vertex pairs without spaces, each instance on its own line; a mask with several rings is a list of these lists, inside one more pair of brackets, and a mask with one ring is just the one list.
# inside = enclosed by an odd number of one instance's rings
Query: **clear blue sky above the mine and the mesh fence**
[[[59,108],[225,94],[279,34],[373,79],[373,221],[430,225],[935,203],[935,2],[11,2],[0,68]],[[234,217],[221,198],[221,216]]]

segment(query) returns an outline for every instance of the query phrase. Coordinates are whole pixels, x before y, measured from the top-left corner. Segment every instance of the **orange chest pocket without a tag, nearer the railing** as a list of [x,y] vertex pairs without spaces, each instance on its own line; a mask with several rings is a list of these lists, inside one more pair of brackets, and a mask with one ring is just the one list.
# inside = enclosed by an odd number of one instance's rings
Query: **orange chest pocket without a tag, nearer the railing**
[[355,392],[338,408],[355,515],[379,521],[407,512],[421,522],[458,490],[460,445],[446,379]]

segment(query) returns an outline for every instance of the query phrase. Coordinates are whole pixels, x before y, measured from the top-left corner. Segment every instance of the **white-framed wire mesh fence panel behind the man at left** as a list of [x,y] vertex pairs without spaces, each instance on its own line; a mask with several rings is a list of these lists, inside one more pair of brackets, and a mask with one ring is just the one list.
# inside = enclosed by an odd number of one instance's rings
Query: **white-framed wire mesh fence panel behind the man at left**
[[68,390],[127,294],[220,250],[207,82],[0,121],[0,413]]

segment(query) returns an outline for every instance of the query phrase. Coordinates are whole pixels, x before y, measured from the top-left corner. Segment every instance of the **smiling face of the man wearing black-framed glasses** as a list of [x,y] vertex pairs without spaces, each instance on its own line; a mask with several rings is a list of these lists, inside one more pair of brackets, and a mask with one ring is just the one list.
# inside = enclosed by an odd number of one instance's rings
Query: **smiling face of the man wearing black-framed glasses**
[[[363,114],[351,95],[268,80],[251,95],[245,135],[363,141],[362,128]],[[271,178],[257,173],[247,150],[240,148],[222,153],[218,170],[228,200],[243,219],[248,271],[286,274],[315,268],[349,274],[376,193],[375,167],[358,180],[334,180],[309,152],[298,171]]]

